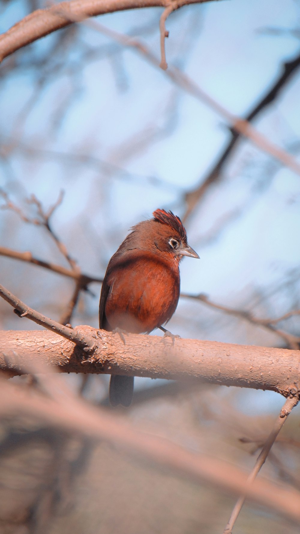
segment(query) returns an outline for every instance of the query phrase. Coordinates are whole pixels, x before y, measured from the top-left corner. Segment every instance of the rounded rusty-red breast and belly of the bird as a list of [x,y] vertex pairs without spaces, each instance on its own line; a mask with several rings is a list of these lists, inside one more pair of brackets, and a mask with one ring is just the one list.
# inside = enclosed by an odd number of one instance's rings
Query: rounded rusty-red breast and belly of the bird
[[177,262],[135,254],[115,262],[107,274],[105,316],[112,329],[151,332],[172,317],[180,292]]

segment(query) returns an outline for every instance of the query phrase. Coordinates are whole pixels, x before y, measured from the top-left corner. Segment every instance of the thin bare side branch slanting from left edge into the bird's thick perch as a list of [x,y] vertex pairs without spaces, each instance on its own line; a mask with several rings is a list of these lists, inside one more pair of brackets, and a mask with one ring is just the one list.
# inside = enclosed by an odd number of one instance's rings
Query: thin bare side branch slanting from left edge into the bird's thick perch
[[65,337],[69,341],[73,341],[73,343],[78,345],[78,347],[83,349],[85,352],[92,351],[94,348],[95,342],[90,337],[80,334],[74,328],[68,328],[67,326],[61,325],[60,323],[57,323],[57,321],[42,315],[42,313],[29,308],[27,304],[24,304],[18,299],[18,297],[13,295],[8,289],[1,285],[0,296],[6,300],[6,302],[11,304],[15,310],[17,310],[17,315],[19,317],[27,317],[27,319],[31,319],[31,321],[34,321],[34,323],[44,326],[44,328],[51,330],[51,332],[55,332],[56,334]]

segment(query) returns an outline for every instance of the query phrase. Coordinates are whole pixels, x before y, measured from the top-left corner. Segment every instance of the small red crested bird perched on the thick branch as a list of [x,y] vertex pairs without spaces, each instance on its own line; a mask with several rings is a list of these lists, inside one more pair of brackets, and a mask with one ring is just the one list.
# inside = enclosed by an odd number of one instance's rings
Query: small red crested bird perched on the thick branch
[[[153,215],[133,226],[110,258],[101,289],[100,328],[135,334],[164,330],[162,325],[177,308],[179,262],[183,256],[199,256],[188,246],[179,217],[164,209]],[[133,376],[110,377],[110,404],[130,405],[133,380]]]

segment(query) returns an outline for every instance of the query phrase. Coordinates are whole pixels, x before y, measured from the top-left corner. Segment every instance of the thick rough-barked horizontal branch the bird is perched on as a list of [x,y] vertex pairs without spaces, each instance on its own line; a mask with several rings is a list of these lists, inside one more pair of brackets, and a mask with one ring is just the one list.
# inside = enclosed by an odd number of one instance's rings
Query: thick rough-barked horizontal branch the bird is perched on
[[1,332],[0,369],[10,376],[35,364],[60,372],[105,373],[203,382],[297,394],[300,351],[212,341],[125,335],[76,328],[95,343],[92,355],[49,331]]

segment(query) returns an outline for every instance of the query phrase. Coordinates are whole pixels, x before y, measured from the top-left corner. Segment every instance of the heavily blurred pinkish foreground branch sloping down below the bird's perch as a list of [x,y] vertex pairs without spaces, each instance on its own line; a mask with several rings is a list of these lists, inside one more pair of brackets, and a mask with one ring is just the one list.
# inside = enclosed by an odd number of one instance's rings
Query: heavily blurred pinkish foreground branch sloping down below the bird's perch
[[[43,378],[41,377],[42,381]],[[259,480],[251,485],[240,469],[204,454],[196,454],[133,427],[124,418],[95,408],[72,395],[58,380],[49,376],[42,382],[47,396],[2,381],[3,417],[24,414],[64,432],[80,433],[92,439],[105,440],[137,458],[137,454],[168,468],[195,482],[206,482],[231,492],[243,492],[260,505],[269,506],[277,513],[300,522],[300,493],[288,486]],[[61,387],[62,394],[59,393]],[[55,392],[53,396],[52,393]]]

